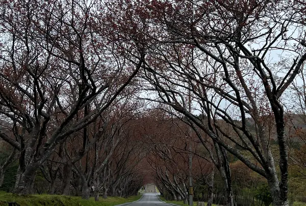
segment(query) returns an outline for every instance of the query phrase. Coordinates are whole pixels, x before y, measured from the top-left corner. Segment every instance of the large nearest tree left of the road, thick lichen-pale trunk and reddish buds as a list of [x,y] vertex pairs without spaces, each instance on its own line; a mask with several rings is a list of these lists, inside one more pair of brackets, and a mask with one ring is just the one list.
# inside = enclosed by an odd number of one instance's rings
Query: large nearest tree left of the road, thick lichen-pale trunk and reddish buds
[[1,1],[0,114],[15,138],[2,130],[0,137],[20,151],[15,193],[31,193],[35,171],[57,145],[86,130],[140,69],[135,39],[124,45],[136,67],[118,55],[123,43],[99,30],[99,6]]

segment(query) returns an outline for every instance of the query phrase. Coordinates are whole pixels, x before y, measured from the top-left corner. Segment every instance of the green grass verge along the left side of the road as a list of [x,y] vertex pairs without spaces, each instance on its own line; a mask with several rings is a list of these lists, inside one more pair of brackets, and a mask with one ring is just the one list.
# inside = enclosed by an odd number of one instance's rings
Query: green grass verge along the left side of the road
[[17,202],[20,206],[114,206],[138,200],[141,195],[123,197],[100,198],[99,201],[81,199],[81,197],[64,195],[15,195],[0,191],[0,206],[8,205],[7,202]]

